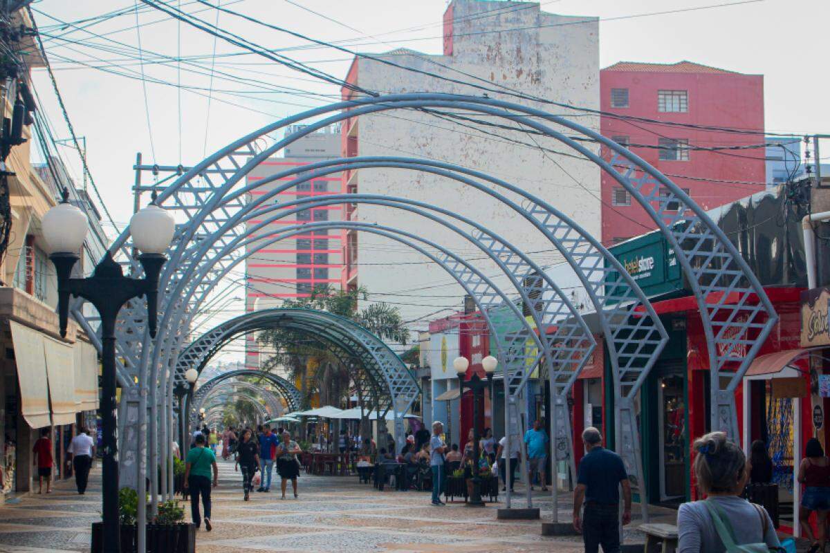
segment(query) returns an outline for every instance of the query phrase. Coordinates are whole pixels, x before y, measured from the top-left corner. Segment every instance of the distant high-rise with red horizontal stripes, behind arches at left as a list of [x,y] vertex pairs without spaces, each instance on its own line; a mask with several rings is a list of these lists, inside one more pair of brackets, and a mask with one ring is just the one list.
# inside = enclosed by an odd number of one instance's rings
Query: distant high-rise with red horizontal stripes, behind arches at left
[[[304,125],[291,125],[286,129],[286,135],[303,127]],[[260,163],[249,173],[247,182],[256,184],[286,169],[339,158],[339,155],[339,126],[319,129],[288,146],[285,149],[285,157],[271,158]],[[296,177],[297,175],[292,175],[267,182],[251,191],[249,197],[263,196]],[[279,192],[275,201],[277,203],[294,201],[341,192],[343,192],[343,181],[340,173],[333,173]],[[261,236],[261,240],[247,245],[247,251],[256,250],[257,247],[263,245],[263,242],[273,240],[273,235],[269,233],[271,229],[276,233],[286,226],[301,225],[306,222],[340,221],[343,218],[342,213],[343,206],[320,206],[273,221],[265,229],[256,231],[255,235]],[[253,219],[247,223],[247,226],[251,228],[262,221],[262,219]],[[261,250],[248,256],[245,267],[247,312],[279,307],[286,299],[308,298],[312,290],[318,287],[329,286],[339,289],[343,269],[344,235],[343,230],[314,230],[265,245]],[[261,361],[266,361],[266,353],[260,351],[256,335],[248,335],[245,363],[247,368],[259,368]]]

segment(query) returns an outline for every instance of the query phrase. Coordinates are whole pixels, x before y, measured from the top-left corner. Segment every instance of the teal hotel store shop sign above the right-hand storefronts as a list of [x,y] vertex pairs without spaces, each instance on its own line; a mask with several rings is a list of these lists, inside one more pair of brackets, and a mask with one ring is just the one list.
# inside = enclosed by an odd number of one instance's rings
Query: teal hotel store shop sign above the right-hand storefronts
[[647,296],[683,287],[680,264],[660,232],[639,236],[610,250]]

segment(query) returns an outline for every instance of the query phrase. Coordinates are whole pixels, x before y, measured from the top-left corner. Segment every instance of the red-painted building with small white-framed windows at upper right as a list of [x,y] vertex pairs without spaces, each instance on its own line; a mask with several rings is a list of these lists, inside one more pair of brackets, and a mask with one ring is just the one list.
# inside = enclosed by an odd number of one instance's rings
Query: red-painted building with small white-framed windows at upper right
[[[764,148],[748,148],[764,143],[763,75],[621,61],[601,71],[600,89],[603,136],[628,145],[704,209],[765,189]],[[602,187],[604,244],[656,228],[612,177],[603,174]]]

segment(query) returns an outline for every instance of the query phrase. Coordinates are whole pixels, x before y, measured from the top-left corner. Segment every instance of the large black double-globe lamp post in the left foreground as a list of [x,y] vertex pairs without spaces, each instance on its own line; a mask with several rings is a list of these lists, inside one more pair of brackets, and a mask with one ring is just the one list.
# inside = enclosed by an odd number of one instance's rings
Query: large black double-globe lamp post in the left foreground
[[101,398],[100,415],[103,430],[102,467],[102,543],[105,553],[119,553],[120,529],[118,520],[118,444],[115,429],[115,320],[121,308],[132,298],[147,298],[147,326],[155,337],[158,309],[159,274],[167,258],[170,240],[175,228],[173,217],[158,206],[150,206],[134,214],[130,232],[134,246],[144,253],[139,262],[144,268],[144,279],[125,277],[121,266],[108,251],[88,278],[73,278],[72,268],[80,259],[88,221],[83,211],[69,203],[69,191],[64,188],[63,201],[43,216],[43,236],[49,245],[55,264],[58,290],[58,315],[61,337],[66,337],[69,319],[69,300],[78,296],[92,303],[100,314],[101,332]]

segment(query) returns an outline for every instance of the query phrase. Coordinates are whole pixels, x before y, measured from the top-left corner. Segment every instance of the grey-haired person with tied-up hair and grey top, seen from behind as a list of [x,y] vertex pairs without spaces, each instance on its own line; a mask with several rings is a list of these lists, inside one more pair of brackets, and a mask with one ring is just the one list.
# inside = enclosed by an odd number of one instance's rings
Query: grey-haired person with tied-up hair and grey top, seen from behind
[[[752,470],[740,447],[723,432],[712,432],[696,439],[692,449],[696,452],[692,470],[706,499],[680,506],[677,553],[739,551],[736,546],[744,546],[740,551],[779,548],[773,521],[764,507],[740,497]],[[816,544],[810,551],[818,551]]]

